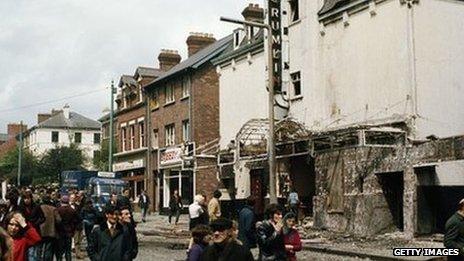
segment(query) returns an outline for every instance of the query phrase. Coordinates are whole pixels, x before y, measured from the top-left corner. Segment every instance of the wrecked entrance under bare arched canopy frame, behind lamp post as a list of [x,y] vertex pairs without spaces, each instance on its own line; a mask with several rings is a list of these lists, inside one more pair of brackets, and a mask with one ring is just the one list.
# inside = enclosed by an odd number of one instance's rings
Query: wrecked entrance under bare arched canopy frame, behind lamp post
[[[253,119],[243,125],[234,142],[218,157],[219,176],[235,207],[247,197],[256,199],[255,211],[263,217],[269,198],[267,119]],[[308,147],[310,133],[292,119],[276,123],[277,196],[284,204],[293,187],[300,195],[301,214],[312,214],[315,193],[314,161]],[[227,202],[224,202],[227,204]]]

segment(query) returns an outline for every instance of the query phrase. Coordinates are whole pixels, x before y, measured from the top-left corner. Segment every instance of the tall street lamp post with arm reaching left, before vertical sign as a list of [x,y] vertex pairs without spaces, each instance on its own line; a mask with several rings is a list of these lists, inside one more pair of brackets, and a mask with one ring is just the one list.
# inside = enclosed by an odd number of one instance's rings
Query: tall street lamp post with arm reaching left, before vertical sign
[[256,23],[250,21],[236,20],[232,18],[221,17],[221,21],[230,22],[234,24],[250,25],[267,30],[267,73],[268,73],[268,106],[269,106],[269,132],[268,132],[268,161],[269,161],[269,201],[271,204],[277,203],[277,189],[276,189],[276,156],[275,156],[275,137],[274,137],[274,68],[272,57],[272,28],[268,24]]

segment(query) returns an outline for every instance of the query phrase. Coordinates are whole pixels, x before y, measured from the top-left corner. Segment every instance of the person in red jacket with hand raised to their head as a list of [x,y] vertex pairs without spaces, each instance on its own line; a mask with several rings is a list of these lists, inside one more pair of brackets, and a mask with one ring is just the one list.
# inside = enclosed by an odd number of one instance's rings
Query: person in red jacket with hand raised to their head
[[26,223],[26,219],[19,212],[7,218],[7,232],[13,238],[12,257],[15,261],[26,261],[27,249],[41,240],[39,233]]

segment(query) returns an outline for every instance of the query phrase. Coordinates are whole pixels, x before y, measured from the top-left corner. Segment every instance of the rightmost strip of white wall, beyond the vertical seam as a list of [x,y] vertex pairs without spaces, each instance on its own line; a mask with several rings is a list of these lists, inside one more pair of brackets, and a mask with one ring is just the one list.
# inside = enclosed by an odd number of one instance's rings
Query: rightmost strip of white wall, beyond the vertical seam
[[464,2],[414,8],[419,136],[464,134]]

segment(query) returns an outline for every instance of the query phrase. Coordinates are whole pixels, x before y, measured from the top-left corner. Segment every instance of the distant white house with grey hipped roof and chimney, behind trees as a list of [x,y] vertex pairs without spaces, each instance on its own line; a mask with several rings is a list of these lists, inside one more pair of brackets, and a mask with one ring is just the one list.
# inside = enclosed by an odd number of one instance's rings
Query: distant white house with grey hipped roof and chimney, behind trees
[[50,114],[39,114],[37,125],[24,136],[25,147],[38,157],[50,149],[77,144],[87,160],[87,168],[93,167],[92,159],[100,150],[100,140],[100,122],[70,111],[69,106]]

